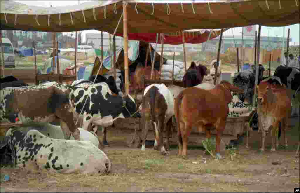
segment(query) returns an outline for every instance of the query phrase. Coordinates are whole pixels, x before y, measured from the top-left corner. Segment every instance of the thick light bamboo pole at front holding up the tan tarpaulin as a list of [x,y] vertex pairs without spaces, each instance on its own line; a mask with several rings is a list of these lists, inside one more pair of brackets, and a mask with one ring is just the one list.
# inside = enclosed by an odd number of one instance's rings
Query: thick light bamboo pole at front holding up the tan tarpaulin
[[123,1],[123,37],[124,37],[124,70],[125,70],[125,95],[129,94],[128,76],[128,34],[127,34],[127,9],[126,1]]

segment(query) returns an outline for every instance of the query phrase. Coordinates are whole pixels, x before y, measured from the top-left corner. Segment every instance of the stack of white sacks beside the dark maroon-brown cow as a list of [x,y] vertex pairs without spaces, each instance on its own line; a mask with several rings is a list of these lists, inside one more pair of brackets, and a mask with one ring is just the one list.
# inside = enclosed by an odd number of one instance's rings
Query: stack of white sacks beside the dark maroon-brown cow
[[[173,60],[167,60],[161,67],[161,79],[172,80]],[[174,61],[174,80],[182,80],[184,75],[184,63]]]

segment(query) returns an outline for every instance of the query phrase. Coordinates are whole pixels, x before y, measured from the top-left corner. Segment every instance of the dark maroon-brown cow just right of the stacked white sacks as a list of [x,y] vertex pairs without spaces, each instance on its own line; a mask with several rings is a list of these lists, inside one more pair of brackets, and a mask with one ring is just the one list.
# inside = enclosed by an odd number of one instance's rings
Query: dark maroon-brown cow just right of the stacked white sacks
[[187,88],[201,84],[205,75],[208,75],[207,68],[202,64],[196,66],[196,63],[192,61],[183,76],[183,87]]

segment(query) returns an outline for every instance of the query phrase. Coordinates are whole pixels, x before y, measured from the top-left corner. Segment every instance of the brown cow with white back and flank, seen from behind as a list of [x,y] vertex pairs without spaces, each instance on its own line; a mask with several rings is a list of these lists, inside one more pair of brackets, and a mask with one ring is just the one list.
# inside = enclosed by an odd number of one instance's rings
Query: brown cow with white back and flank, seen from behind
[[[160,150],[161,154],[167,153],[169,149],[169,133],[172,126],[172,116],[174,115],[174,99],[169,89],[164,84],[152,84],[144,91],[143,103],[140,112],[145,118],[143,134],[143,144],[141,150],[145,150],[145,142],[150,122],[155,129],[154,149]],[[167,148],[164,147],[163,132],[167,130]]]

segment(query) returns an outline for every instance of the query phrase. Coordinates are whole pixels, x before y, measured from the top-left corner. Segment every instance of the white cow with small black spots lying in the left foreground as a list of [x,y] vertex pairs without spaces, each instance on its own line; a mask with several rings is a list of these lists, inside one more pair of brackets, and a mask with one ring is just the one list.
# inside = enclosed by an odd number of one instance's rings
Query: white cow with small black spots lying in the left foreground
[[107,155],[91,141],[53,139],[35,129],[10,129],[6,137],[13,163],[22,168],[64,174],[107,173],[111,168]]

